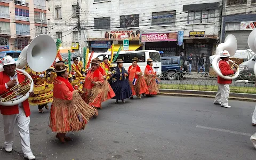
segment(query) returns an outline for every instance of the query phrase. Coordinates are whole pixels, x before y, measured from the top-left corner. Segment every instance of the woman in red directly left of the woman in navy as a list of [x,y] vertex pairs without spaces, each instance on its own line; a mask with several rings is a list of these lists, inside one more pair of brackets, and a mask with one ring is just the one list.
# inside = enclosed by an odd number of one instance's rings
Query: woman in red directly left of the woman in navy
[[[97,60],[98,61],[98,63],[100,63],[100,59],[99,58],[95,58],[95,60]],[[104,101],[106,101],[106,100],[108,100],[108,99],[111,99],[111,98],[113,98],[113,97],[115,97],[115,92],[113,91],[113,89],[112,89],[112,87],[110,86],[110,84],[108,83],[108,80],[106,79],[107,78],[107,73],[106,73],[106,71],[100,66],[100,65],[98,65],[98,69],[99,69],[99,71],[100,71],[100,73],[102,74],[102,77],[103,77],[103,79],[104,79],[104,83],[103,83],[103,88],[107,88],[107,90],[105,91],[105,92],[107,92],[107,94],[105,94],[105,95],[107,95],[107,97],[105,97],[104,98]],[[109,74],[111,74],[111,73],[109,73]],[[99,109],[102,109],[101,107],[99,108]]]

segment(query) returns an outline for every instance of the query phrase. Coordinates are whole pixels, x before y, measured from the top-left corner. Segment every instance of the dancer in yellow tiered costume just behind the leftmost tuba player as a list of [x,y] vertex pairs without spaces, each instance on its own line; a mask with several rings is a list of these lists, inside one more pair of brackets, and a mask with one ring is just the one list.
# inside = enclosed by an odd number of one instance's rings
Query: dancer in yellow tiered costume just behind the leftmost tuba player
[[38,73],[26,66],[26,72],[30,74],[34,81],[34,97],[29,97],[30,105],[38,106],[39,113],[44,113],[43,108],[49,109],[47,103],[53,100],[53,83],[47,81],[46,71]]

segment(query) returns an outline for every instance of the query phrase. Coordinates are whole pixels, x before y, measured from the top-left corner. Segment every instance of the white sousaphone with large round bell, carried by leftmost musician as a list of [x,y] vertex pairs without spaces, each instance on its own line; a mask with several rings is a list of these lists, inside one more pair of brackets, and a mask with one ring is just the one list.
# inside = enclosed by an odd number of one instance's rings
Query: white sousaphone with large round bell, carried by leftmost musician
[[[49,35],[36,36],[28,46],[26,46],[20,53],[16,61],[16,71],[25,75],[27,78],[18,85],[12,87],[9,92],[0,95],[1,106],[14,106],[27,100],[29,92],[33,91],[34,82],[31,76],[23,69],[28,63],[28,66],[36,71],[42,72],[49,69],[54,62],[57,54],[57,46],[54,40]],[[0,71],[3,71],[3,67]]]

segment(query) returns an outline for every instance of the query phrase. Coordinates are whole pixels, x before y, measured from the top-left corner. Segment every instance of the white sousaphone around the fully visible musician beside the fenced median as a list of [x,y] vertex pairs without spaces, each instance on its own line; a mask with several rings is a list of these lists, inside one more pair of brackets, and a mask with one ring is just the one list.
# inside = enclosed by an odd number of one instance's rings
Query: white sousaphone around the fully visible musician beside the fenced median
[[237,67],[237,71],[234,75],[224,76],[224,75],[222,75],[220,68],[219,68],[219,61],[221,60],[220,53],[223,50],[227,50],[229,52],[230,56],[232,57],[236,53],[236,49],[237,49],[237,41],[236,41],[236,37],[234,35],[228,35],[225,38],[225,42],[218,45],[216,52],[215,52],[216,55],[212,60],[212,68],[215,71],[215,73],[217,73],[221,78],[235,79],[238,77],[240,70],[239,70],[239,67],[237,66],[237,64],[233,60],[229,60],[229,62],[233,63],[234,67]]

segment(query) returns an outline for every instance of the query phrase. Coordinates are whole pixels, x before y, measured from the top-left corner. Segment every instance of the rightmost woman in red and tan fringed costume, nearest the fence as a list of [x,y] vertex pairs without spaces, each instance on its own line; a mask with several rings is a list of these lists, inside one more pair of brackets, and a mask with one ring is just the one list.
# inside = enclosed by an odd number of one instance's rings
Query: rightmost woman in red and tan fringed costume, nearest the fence
[[145,68],[145,73],[143,75],[146,84],[148,86],[148,91],[146,92],[147,96],[151,95],[156,95],[158,92],[158,84],[159,84],[159,79],[156,77],[156,73],[153,70],[153,60],[149,58],[147,60],[147,66]]

